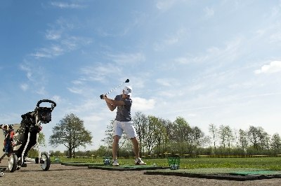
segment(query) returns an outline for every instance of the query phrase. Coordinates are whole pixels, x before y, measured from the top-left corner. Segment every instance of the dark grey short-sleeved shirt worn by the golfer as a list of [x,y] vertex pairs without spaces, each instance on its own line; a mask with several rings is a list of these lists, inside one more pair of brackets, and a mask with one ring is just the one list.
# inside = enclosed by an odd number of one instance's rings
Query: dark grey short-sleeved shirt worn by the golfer
[[122,94],[115,97],[116,101],[124,101],[124,106],[117,106],[117,114],[115,120],[119,122],[130,122],[131,121],[131,99],[123,99]]

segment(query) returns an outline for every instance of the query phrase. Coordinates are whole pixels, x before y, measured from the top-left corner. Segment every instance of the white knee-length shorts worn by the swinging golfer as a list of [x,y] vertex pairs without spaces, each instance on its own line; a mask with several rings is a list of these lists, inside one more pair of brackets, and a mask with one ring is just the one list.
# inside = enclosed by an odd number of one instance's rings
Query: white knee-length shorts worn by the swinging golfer
[[133,126],[133,122],[119,122],[115,120],[113,122],[113,134],[114,136],[122,136],[123,132],[126,134],[127,138],[135,138],[137,136],[136,134],[136,128]]

